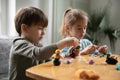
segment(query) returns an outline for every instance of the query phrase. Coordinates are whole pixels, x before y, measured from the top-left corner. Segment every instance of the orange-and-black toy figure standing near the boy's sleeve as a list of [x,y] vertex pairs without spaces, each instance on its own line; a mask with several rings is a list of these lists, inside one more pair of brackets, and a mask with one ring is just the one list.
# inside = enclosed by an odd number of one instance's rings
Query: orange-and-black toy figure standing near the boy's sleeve
[[55,51],[55,54],[53,54],[52,58],[54,58],[54,60],[53,60],[54,66],[59,66],[61,64],[60,59],[63,57],[60,55],[60,49],[57,49]]

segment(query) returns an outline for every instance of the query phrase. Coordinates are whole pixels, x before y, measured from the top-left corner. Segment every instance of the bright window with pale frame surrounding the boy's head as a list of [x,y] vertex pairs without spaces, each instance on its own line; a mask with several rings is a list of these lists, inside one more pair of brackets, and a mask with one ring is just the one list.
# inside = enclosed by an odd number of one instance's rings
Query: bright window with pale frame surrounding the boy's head
[[53,0],[0,0],[0,37],[18,35],[14,27],[14,16],[18,9],[27,6],[40,8],[48,15],[49,24],[42,43],[50,44],[52,42]]

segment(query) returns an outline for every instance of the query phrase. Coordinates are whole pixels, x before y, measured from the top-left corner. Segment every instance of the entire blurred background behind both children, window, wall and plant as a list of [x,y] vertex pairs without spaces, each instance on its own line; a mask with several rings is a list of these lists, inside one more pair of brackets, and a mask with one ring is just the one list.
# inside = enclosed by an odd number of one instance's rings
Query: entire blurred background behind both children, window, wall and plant
[[0,37],[15,37],[14,16],[22,7],[34,6],[43,10],[49,19],[44,45],[61,39],[60,26],[66,9],[79,8],[89,14],[85,38],[97,45],[108,45],[120,53],[120,0],[0,0]]

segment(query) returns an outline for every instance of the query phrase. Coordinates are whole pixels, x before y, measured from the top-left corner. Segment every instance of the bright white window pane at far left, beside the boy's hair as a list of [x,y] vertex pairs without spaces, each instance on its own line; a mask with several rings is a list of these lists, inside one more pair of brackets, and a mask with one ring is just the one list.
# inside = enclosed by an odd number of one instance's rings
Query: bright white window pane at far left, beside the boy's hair
[[0,0],[0,36],[15,36],[15,0]]

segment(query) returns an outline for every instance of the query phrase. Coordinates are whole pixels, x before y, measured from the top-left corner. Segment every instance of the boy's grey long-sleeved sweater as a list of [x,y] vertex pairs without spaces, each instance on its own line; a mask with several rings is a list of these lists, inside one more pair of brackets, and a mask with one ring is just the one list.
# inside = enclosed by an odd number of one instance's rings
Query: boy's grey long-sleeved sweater
[[16,38],[10,52],[9,80],[33,80],[25,76],[25,70],[45,62],[56,49],[55,44],[35,46],[24,38]]

